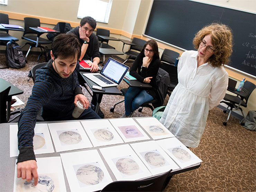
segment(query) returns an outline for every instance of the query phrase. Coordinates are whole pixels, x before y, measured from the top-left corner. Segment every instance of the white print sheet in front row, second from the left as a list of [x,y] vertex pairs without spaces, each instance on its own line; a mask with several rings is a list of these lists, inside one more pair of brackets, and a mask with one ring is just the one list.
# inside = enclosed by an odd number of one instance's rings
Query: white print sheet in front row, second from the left
[[112,182],[97,150],[62,153],[61,159],[71,191],[98,191]]

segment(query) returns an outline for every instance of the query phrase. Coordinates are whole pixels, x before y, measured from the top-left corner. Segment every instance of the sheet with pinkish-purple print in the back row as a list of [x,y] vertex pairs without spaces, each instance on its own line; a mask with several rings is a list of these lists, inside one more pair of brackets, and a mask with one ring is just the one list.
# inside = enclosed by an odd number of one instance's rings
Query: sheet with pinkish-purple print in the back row
[[132,118],[109,119],[125,142],[147,140],[149,137]]

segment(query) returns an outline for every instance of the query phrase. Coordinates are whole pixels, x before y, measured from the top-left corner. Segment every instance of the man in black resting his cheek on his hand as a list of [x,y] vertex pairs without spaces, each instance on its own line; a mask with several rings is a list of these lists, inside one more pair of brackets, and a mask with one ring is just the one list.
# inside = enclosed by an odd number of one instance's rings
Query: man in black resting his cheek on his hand
[[[93,33],[96,28],[96,21],[92,17],[84,17],[80,21],[80,25],[75,27],[74,29],[68,31],[68,33],[75,34],[80,43],[81,47],[81,60],[91,60],[93,61],[91,72],[94,73],[98,70],[98,64],[100,63],[100,52],[99,52],[99,41],[98,37]],[[96,94],[93,93],[91,108],[93,110],[96,109],[97,105],[97,97]],[[103,118],[104,114],[99,109],[98,115]]]

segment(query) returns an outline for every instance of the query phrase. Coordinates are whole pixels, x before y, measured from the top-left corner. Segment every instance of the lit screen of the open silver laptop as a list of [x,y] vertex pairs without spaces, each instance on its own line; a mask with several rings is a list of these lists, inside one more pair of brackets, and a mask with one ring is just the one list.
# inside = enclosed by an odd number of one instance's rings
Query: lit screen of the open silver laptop
[[128,70],[128,66],[109,57],[100,73],[119,84]]

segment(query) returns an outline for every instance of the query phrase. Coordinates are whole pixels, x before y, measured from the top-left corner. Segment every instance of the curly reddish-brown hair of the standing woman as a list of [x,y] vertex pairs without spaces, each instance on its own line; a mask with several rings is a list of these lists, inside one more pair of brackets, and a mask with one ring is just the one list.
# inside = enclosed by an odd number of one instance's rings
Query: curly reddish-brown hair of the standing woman
[[214,67],[228,64],[233,46],[231,29],[227,25],[218,23],[207,25],[195,35],[193,39],[194,47],[198,49],[200,40],[209,34],[211,35],[211,43],[215,50],[213,55],[209,58],[209,63]]

